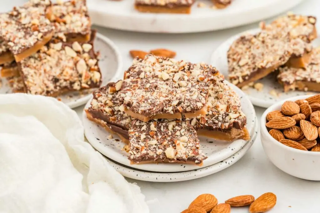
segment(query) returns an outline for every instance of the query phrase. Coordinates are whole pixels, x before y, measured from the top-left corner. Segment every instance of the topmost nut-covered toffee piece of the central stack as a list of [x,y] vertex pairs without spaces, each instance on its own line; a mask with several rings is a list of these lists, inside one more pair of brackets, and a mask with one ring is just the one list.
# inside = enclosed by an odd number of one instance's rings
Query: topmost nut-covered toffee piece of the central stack
[[149,54],[143,60],[136,58],[125,72],[120,99],[127,114],[144,122],[193,118],[206,114],[208,89],[217,75],[206,64]]

